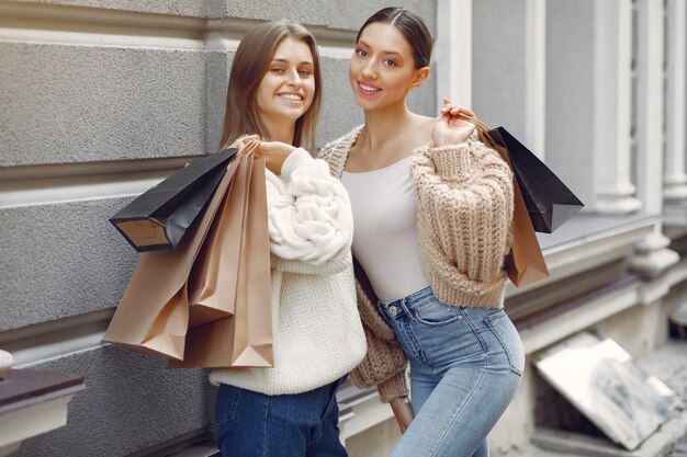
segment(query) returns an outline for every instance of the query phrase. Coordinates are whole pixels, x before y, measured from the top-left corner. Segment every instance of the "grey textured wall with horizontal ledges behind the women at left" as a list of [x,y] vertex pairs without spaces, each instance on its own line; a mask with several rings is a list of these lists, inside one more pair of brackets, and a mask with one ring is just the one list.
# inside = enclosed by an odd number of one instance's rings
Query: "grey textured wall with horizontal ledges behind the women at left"
[[[435,32],[435,1],[396,3]],[[0,347],[18,366],[87,385],[68,424],[18,456],[144,456],[207,434],[202,370],[167,370],[100,342],[137,260],[106,219],[214,149],[234,49],[260,21],[302,22],[320,44],[320,145],[360,123],[347,61],[358,27],[385,5],[0,1]],[[410,106],[431,115],[435,87]]]

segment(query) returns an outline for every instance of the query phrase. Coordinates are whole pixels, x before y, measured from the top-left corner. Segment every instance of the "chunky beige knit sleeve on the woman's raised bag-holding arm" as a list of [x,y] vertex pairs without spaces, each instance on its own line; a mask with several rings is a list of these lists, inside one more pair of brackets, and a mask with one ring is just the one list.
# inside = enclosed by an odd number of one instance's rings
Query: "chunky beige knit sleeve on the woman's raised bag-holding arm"
[[459,145],[419,149],[412,174],[430,282],[474,295],[499,287],[511,242],[508,164],[473,135]]

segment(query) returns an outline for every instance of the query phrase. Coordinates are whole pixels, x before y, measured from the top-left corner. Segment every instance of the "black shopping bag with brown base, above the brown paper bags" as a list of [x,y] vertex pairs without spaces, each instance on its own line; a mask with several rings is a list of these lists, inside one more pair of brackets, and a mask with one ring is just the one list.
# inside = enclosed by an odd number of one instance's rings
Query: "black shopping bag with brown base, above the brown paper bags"
[[138,252],[176,248],[237,151],[229,148],[196,160],[139,195],[110,221]]

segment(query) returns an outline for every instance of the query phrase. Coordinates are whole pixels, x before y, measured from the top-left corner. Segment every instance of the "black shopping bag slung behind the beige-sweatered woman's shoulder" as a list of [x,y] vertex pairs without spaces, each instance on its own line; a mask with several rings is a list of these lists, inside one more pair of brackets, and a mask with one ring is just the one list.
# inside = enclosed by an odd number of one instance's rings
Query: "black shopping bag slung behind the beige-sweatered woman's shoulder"
[[488,135],[508,150],[534,231],[551,233],[582,209],[575,194],[508,130],[497,127]]

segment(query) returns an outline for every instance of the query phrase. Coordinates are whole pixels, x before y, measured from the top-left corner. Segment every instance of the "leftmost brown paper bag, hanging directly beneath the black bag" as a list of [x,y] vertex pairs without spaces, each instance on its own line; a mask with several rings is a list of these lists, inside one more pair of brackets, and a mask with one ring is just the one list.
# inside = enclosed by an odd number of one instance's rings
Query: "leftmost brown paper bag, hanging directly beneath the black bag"
[[189,325],[187,282],[212,220],[238,165],[221,176],[205,210],[177,249],[144,252],[103,338],[150,355],[181,359]]

